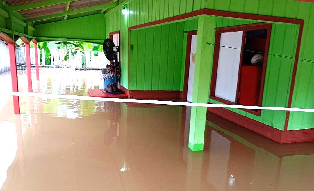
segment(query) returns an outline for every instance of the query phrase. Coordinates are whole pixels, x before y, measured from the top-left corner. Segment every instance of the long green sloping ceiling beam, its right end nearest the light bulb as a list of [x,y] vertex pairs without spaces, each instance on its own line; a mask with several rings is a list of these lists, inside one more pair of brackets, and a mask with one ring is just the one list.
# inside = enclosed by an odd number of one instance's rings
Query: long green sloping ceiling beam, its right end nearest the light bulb
[[80,14],[80,13],[100,10],[100,9],[103,9],[103,8],[115,7],[118,4],[119,3],[110,3],[110,4],[108,3],[108,4],[104,4],[104,5],[96,5],[96,6],[92,6],[92,7],[81,8],[81,9],[67,11],[67,12],[62,12],[62,13],[57,13],[57,14],[51,14],[51,15],[46,15],[46,16],[42,16],[42,17],[26,19],[25,22],[26,23],[31,23],[31,22],[40,21],[40,20],[47,20],[47,19],[52,19],[52,18],[56,18],[56,17],[62,17],[62,16],[65,16],[65,15]]

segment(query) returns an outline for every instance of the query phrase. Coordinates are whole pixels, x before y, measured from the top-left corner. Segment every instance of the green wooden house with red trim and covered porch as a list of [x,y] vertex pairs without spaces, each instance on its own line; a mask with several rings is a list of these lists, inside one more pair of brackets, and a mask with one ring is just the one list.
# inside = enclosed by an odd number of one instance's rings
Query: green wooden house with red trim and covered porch
[[[0,0],[0,8],[9,43],[116,38],[129,98],[314,108],[310,0]],[[278,143],[314,140],[312,112],[192,107],[192,150],[203,149],[207,112]]]

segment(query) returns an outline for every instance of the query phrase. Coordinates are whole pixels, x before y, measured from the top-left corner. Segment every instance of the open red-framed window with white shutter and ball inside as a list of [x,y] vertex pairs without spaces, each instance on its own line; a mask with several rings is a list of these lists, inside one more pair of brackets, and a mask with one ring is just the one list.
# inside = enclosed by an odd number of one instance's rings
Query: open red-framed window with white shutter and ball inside
[[[210,98],[261,106],[271,24],[216,29]],[[243,109],[255,115],[260,110]]]

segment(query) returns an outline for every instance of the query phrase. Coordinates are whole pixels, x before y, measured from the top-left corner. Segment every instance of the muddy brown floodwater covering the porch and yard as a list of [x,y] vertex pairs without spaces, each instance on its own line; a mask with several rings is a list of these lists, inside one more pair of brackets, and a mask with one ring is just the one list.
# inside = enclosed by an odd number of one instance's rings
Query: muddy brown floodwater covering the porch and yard
[[[9,73],[0,80],[10,90]],[[42,72],[33,89],[87,95],[102,83],[98,72]],[[23,71],[19,87],[27,91]],[[314,188],[313,142],[279,145],[210,115],[205,150],[191,152],[189,108],[26,97],[20,104],[13,115],[12,98],[1,97],[1,191]]]

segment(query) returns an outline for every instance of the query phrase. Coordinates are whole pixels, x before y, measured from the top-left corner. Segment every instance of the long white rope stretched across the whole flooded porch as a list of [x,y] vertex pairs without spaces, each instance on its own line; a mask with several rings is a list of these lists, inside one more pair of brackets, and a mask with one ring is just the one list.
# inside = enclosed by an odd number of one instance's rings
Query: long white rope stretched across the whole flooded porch
[[159,101],[159,100],[145,100],[145,99],[123,99],[123,98],[99,98],[99,97],[89,97],[89,96],[60,95],[60,94],[48,94],[48,93],[6,92],[6,93],[1,93],[1,94],[11,95],[11,96],[81,99],[81,100],[90,100],[90,101],[111,101],[111,102],[139,103],[139,104],[162,104],[162,105],[222,107],[222,108],[253,109],[253,110],[314,112],[314,109],[303,109],[303,108],[263,107],[263,106],[230,105],[230,104],[200,104],[200,103],[187,103],[187,102],[177,102],[177,101]]

